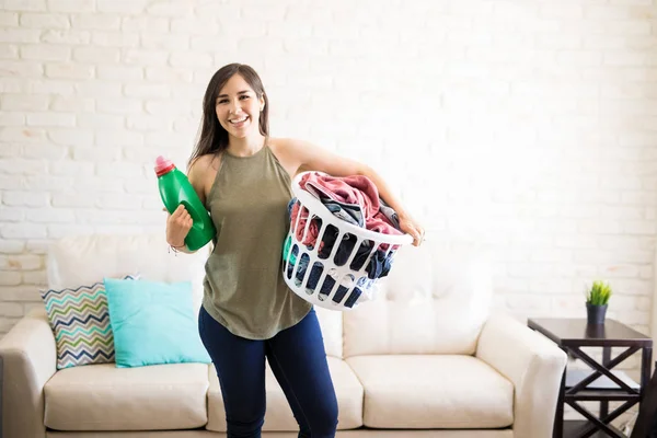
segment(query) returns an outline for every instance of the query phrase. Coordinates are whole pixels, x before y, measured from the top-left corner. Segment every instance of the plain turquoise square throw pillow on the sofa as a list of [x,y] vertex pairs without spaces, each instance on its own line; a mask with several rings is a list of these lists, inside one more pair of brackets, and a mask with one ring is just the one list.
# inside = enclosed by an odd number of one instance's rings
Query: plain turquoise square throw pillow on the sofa
[[209,364],[198,335],[192,284],[105,278],[117,368]]

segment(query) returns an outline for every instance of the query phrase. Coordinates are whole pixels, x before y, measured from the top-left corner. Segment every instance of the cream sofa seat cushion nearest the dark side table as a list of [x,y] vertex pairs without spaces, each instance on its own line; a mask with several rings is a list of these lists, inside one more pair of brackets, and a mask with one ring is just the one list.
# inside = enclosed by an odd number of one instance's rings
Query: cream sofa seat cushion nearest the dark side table
[[493,428],[514,422],[514,385],[472,356],[356,356],[364,424],[374,428]]

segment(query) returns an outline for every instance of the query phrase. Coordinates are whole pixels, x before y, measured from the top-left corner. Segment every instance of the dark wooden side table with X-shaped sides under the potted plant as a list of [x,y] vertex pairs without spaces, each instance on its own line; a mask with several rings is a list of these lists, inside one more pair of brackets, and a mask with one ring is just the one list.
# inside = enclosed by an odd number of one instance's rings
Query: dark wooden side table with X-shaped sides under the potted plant
[[[553,437],[625,438],[625,435],[611,426],[611,422],[643,400],[650,378],[653,339],[614,320],[607,320],[601,325],[587,325],[586,319],[530,319],[528,326],[552,339],[566,354],[580,359],[591,368],[591,370],[565,370],[554,418]],[[585,354],[581,347],[601,347],[601,362]],[[612,347],[626,347],[626,349],[612,359]],[[642,350],[639,383],[632,381],[622,371],[612,371],[638,350]],[[579,404],[579,402],[590,401],[600,402],[599,416],[595,416]],[[610,413],[609,402],[624,403]],[[564,422],[565,404],[587,419]]]

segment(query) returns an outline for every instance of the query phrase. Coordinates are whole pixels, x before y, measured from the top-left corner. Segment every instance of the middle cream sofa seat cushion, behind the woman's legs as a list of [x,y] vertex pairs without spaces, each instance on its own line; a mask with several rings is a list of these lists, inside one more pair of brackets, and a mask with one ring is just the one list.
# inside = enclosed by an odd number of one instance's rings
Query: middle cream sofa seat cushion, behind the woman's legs
[[[362,426],[362,387],[347,364],[335,357],[327,357],[328,370],[337,395],[338,429],[353,429]],[[265,371],[267,408],[263,430],[293,431],[299,425],[290,405],[269,365]],[[210,389],[208,391],[208,430],[226,431],[226,411],[221,388],[214,366],[210,366]]]

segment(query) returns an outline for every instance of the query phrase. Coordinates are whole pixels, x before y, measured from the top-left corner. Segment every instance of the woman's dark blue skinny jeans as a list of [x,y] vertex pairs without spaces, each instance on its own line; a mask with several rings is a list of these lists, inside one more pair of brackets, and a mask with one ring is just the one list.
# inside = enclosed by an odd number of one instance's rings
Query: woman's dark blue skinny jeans
[[333,438],[337,400],[314,309],[270,339],[230,333],[208,312],[198,314],[200,338],[217,369],[228,438],[260,438],[265,422],[265,358],[299,424],[299,438]]

